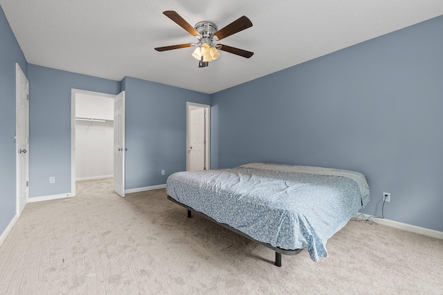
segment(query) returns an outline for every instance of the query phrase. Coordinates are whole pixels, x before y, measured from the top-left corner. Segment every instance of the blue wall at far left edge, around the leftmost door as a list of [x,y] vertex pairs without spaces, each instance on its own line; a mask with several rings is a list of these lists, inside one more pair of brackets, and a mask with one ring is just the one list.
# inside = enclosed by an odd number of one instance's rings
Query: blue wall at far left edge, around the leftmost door
[[15,64],[26,59],[0,6],[0,234],[16,213]]

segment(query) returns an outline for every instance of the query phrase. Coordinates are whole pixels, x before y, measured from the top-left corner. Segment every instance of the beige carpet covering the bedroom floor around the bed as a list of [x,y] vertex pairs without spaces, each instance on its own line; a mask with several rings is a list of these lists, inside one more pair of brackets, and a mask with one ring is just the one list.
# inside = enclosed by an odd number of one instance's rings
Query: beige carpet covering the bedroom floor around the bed
[[3,294],[443,294],[443,240],[348,224],[328,258],[274,252],[166,199],[110,180],[30,203],[0,248]]

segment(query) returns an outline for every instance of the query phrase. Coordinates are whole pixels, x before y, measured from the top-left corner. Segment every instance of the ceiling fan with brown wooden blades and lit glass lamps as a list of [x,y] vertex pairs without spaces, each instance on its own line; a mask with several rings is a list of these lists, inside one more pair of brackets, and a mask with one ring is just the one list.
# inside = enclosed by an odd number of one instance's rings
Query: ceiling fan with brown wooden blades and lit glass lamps
[[157,51],[166,51],[197,46],[197,48],[192,53],[192,57],[195,57],[195,59],[199,60],[199,68],[206,68],[209,61],[217,59],[220,56],[218,50],[223,50],[227,53],[233,53],[235,55],[246,58],[249,58],[254,54],[251,53],[251,51],[227,46],[224,44],[214,44],[215,41],[219,41],[237,32],[240,32],[247,28],[251,28],[252,22],[245,16],[240,17],[232,23],[229,23],[228,26],[225,26],[220,30],[217,30],[217,26],[215,26],[215,23],[212,23],[210,21],[200,21],[192,27],[187,21],[185,21],[185,19],[183,19],[183,17],[181,17],[174,10],[163,11],[163,15],[172,19],[172,21],[181,26],[181,28],[189,32],[190,35],[197,37],[199,41],[197,43],[186,43],[154,48]]

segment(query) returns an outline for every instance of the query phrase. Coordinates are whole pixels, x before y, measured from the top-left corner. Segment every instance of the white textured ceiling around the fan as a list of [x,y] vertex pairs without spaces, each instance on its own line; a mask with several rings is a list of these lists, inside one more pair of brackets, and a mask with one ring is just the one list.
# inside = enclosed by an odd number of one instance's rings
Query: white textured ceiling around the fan
[[[120,81],[125,76],[215,93],[394,30],[443,15],[442,0],[0,0],[30,64]],[[192,26],[222,28],[246,15],[253,23],[198,68],[194,48],[154,47],[197,41],[163,15],[176,10]]]

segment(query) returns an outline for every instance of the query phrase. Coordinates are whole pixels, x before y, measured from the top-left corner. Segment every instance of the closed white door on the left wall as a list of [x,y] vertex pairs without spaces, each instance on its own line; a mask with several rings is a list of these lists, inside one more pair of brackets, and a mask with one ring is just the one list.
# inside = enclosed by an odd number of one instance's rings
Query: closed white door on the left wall
[[17,215],[29,198],[29,82],[16,64]]

